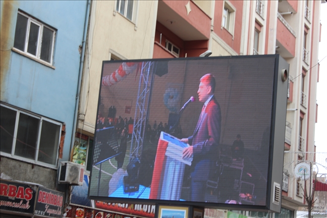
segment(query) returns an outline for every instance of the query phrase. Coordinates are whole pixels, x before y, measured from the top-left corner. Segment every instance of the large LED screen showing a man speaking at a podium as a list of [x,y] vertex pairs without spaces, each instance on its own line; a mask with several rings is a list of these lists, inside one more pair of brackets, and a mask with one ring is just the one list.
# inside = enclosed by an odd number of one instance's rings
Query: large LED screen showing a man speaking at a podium
[[104,61],[89,197],[265,206],[276,59]]

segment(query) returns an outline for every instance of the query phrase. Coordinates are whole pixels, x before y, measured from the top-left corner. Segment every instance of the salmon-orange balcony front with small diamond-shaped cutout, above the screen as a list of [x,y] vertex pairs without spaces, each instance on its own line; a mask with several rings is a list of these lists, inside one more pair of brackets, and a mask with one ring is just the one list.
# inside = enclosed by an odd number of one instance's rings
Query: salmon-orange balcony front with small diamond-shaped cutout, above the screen
[[163,0],[172,10],[194,26],[199,32],[210,38],[211,18],[205,14],[193,1],[190,1],[191,12],[187,15],[186,7],[188,0]]

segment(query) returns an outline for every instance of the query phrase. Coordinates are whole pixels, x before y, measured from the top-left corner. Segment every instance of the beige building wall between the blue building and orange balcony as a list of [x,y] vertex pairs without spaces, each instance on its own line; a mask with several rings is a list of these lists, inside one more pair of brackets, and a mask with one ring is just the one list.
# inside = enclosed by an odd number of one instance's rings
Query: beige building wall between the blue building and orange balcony
[[91,136],[96,124],[102,61],[153,55],[158,1],[134,1],[132,20],[116,11],[116,3],[92,1],[78,117],[78,128]]

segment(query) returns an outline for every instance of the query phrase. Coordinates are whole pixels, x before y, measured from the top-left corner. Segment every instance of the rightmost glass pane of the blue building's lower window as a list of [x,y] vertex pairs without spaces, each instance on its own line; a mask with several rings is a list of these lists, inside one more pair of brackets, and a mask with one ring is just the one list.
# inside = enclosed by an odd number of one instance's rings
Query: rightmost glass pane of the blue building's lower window
[[38,161],[56,164],[60,126],[42,121]]

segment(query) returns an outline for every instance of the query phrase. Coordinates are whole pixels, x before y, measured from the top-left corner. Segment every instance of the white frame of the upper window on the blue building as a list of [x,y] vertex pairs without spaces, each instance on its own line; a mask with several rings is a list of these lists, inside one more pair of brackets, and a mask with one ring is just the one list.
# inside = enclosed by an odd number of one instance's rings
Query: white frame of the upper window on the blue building
[[[27,55],[27,56],[30,56],[30,57],[33,57],[33,58],[37,58],[39,61],[43,62],[43,63],[46,63],[46,64],[51,64],[53,65],[53,59],[54,59],[54,42],[55,42],[55,35],[56,35],[56,30],[36,19],[34,19],[33,17],[29,16],[28,14],[26,13],[23,13],[21,11],[18,11],[18,14],[28,18],[27,20],[27,27],[26,27],[26,36],[25,36],[25,43],[24,43],[24,51],[20,50],[20,49],[17,49],[17,48],[13,48],[14,50],[18,50],[18,51],[21,51],[23,52],[23,54]],[[29,40],[29,32],[30,32],[30,26],[31,26],[31,23],[39,26],[39,34],[38,34],[38,42],[37,42],[37,48],[36,48],[36,55],[34,54],[30,54],[27,52],[28,50],[28,40]],[[44,27],[50,29],[53,31],[53,38],[52,38],[52,48],[51,48],[51,56],[50,56],[50,62],[48,61],[45,61],[43,59],[40,58],[41,56],[41,48],[42,48],[42,36],[43,36],[43,29]]]

